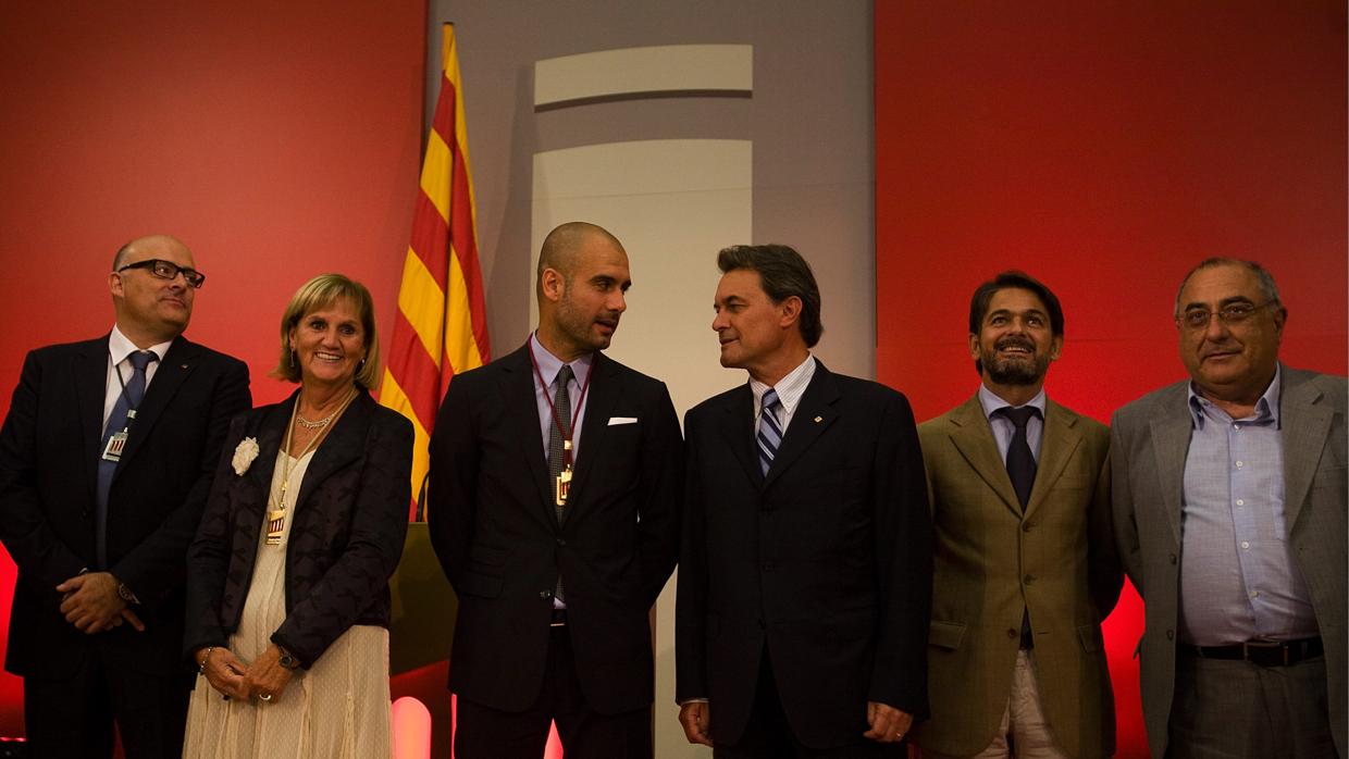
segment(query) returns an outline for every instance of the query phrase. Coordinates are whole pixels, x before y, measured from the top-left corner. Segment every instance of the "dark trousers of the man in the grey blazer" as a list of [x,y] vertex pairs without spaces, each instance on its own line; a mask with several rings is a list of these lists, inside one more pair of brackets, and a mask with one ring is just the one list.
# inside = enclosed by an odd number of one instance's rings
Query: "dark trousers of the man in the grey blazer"
[[1286,667],[1176,657],[1168,759],[1336,759],[1326,659]]

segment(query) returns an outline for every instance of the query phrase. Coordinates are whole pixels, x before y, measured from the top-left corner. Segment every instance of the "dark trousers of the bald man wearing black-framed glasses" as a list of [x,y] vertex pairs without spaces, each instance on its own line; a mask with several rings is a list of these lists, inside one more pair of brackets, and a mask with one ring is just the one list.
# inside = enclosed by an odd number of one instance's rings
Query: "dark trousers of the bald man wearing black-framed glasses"
[[188,721],[189,674],[158,677],[89,657],[69,679],[23,679],[28,755],[42,759],[112,756],[113,723],[127,759],[178,759]]

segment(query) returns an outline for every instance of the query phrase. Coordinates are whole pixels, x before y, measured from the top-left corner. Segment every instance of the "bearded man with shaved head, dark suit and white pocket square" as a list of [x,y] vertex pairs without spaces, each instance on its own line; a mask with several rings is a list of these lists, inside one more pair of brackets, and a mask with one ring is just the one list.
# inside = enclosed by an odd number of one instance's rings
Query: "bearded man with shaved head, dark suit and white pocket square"
[[455,755],[652,756],[649,612],[679,547],[665,384],[606,359],[627,253],[592,224],[544,240],[538,329],[456,376],[430,441],[430,537],[459,596]]

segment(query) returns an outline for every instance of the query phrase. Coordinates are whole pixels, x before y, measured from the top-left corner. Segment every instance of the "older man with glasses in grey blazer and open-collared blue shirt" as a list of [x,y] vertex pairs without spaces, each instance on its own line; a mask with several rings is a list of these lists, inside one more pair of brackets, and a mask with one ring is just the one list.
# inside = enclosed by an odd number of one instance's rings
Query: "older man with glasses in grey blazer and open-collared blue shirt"
[[1190,379],[1114,417],[1153,756],[1346,756],[1346,384],[1279,363],[1287,317],[1263,267],[1205,260],[1175,306]]

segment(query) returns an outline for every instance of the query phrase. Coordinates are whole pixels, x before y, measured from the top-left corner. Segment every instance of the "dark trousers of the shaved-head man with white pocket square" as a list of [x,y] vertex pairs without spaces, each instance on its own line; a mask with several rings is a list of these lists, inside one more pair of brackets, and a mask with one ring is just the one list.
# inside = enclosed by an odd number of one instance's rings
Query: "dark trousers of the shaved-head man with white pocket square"
[[652,759],[652,708],[619,715],[591,709],[568,630],[552,628],[544,688],[529,709],[502,712],[459,697],[456,759],[540,759],[554,721],[567,759]]

